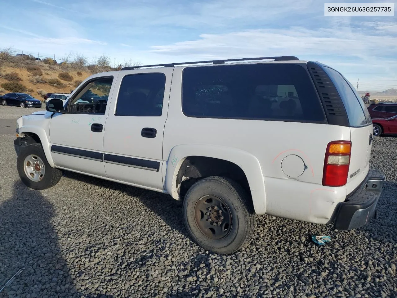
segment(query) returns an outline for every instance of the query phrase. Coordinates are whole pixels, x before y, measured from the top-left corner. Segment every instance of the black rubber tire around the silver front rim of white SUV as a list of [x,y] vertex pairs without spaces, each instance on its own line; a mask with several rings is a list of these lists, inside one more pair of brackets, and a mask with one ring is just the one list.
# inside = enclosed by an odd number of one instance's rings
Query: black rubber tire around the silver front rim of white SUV
[[[44,163],[44,176],[39,182],[32,181],[25,174],[24,162],[25,158],[29,155],[37,155]],[[17,170],[19,177],[21,178],[23,184],[34,190],[45,190],[51,188],[59,182],[62,177],[62,171],[57,168],[52,168],[46,159],[43,147],[40,143],[33,143],[25,147],[21,147],[21,152],[17,157]]]

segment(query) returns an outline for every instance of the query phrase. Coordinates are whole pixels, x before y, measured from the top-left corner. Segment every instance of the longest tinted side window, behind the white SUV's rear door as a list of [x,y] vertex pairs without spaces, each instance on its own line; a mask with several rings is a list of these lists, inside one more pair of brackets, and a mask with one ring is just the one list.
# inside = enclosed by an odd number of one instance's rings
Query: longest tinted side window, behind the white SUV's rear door
[[183,70],[187,116],[321,122],[312,81],[296,64],[243,64]]

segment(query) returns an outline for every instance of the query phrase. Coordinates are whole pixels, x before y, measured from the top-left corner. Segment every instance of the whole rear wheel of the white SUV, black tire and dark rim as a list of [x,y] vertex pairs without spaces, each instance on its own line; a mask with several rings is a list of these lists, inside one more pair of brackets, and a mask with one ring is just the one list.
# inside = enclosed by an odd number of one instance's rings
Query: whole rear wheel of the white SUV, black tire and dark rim
[[[206,197],[210,199],[204,201]],[[204,229],[202,225],[207,224],[206,222],[209,221],[210,217],[214,218],[211,215],[211,212],[214,211],[203,213],[201,209],[197,210],[197,204],[202,206],[208,200],[210,200],[209,204],[212,205],[213,201],[211,197],[221,199],[225,203],[220,204],[226,207],[222,207],[224,210],[222,214],[227,214],[225,218],[226,220],[230,220],[227,234],[218,239],[210,238],[202,232]],[[219,209],[217,209],[217,212],[219,212]],[[210,213],[210,215],[207,215],[207,213]],[[198,219],[200,214],[201,219]],[[203,218],[203,216],[207,218]],[[233,253],[245,246],[251,238],[256,224],[254,208],[245,190],[233,180],[220,176],[203,178],[189,188],[183,201],[183,217],[185,219],[185,226],[193,240],[205,250],[220,254]],[[197,224],[198,222],[200,224]],[[216,225],[214,221],[210,224]],[[218,227],[214,226],[214,228]],[[206,232],[208,233],[208,230],[214,230],[214,228],[209,226],[209,228],[206,228]],[[220,228],[224,232],[222,221]],[[214,237],[216,237],[215,232],[213,233]]]

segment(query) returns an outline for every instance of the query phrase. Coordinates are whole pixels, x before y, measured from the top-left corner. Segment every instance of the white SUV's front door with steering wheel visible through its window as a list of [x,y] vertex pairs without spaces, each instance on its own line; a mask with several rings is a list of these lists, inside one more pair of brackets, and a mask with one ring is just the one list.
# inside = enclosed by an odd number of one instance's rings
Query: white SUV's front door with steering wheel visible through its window
[[[65,113],[56,113],[50,122],[51,154],[56,166],[84,174],[106,177],[103,138],[108,98],[113,76],[95,77],[71,95]],[[87,91],[98,95],[95,103],[81,101]]]

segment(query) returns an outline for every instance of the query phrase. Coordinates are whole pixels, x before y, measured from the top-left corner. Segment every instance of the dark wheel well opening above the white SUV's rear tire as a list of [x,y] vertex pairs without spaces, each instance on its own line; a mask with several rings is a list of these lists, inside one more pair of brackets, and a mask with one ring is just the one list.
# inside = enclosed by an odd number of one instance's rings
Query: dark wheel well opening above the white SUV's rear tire
[[251,197],[247,176],[235,163],[204,156],[189,156],[179,168],[176,185],[180,198],[183,198],[195,182],[209,176],[224,176],[239,183]]

